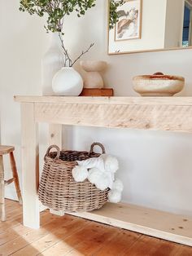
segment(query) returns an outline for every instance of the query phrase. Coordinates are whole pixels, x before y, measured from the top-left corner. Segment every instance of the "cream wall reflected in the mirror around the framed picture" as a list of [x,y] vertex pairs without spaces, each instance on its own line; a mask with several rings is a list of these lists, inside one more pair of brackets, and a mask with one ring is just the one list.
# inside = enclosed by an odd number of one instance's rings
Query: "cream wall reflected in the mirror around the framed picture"
[[128,52],[163,49],[166,6],[167,0],[142,0],[141,38],[116,42],[114,41],[115,29],[111,29],[109,31],[109,53],[119,50]]

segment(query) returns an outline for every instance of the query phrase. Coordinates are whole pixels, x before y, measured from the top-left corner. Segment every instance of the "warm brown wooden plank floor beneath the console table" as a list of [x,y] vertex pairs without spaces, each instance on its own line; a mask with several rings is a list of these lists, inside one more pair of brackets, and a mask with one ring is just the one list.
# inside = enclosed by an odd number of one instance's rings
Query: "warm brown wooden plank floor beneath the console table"
[[0,255],[191,256],[192,247],[66,214],[41,213],[41,228],[22,225],[18,202],[6,201],[7,222],[0,223]]

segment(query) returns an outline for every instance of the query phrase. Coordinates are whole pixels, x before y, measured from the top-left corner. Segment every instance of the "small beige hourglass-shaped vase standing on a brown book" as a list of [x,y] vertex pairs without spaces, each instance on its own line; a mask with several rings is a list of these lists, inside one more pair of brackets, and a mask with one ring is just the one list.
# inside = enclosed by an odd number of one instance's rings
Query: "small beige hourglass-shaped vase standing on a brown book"
[[81,67],[85,70],[84,88],[103,88],[103,77],[99,72],[107,68],[105,61],[81,60]]

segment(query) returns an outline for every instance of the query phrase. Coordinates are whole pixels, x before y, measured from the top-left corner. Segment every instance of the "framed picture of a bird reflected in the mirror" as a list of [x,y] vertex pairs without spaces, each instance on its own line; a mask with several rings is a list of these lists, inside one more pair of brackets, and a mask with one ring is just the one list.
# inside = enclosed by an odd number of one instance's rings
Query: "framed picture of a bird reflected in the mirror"
[[117,8],[117,14],[115,41],[141,38],[142,0],[124,0],[124,4]]

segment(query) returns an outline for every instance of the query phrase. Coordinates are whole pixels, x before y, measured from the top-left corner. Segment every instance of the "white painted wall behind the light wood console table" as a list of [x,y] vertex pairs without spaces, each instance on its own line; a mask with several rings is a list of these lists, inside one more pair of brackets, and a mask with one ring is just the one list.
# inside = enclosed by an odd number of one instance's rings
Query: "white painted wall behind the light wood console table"
[[[41,93],[40,60],[46,33],[38,19],[18,12],[13,0],[1,1],[0,17],[2,143],[16,145],[20,166],[20,107],[12,96]],[[95,42],[85,59],[108,62],[103,76],[106,85],[115,88],[116,95],[137,95],[132,89],[132,77],[156,71],[185,77],[181,95],[192,95],[192,50],[107,55],[107,1],[98,0],[97,6],[82,19],[69,17],[65,33],[73,57]],[[68,148],[88,149],[90,143],[98,140],[107,152],[119,158],[118,176],[124,181],[124,201],[192,216],[192,135],[75,127],[65,137]],[[44,141],[45,135],[41,139]],[[13,196],[10,190],[9,196]]]

